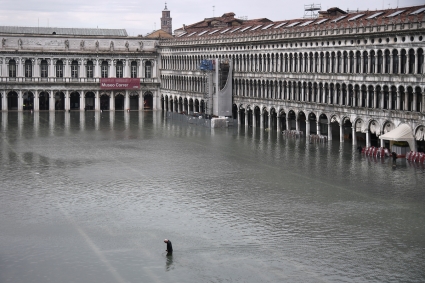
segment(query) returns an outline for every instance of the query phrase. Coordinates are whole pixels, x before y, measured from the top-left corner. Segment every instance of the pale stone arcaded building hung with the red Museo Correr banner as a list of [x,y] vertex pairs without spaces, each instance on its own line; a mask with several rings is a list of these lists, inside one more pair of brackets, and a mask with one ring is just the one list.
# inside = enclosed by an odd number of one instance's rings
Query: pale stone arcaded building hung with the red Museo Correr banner
[[[0,109],[142,110],[160,102],[156,41],[125,30],[0,27]],[[134,90],[102,78],[139,78]]]

